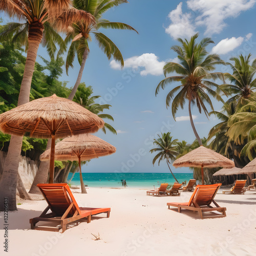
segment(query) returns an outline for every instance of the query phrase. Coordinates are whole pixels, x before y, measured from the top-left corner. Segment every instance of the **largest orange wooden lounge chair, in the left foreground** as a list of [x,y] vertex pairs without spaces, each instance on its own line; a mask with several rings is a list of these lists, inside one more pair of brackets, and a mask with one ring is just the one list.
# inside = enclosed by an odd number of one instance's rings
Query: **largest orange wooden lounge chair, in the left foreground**
[[[110,208],[79,207],[67,183],[37,184],[48,206],[39,217],[30,219],[31,229],[64,232],[67,224],[87,218],[91,222],[91,216],[106,213],[110,217]],[[51,210],[50,213],[47,213]],[[55,222],[56,227],[35,226],[39,221]]]

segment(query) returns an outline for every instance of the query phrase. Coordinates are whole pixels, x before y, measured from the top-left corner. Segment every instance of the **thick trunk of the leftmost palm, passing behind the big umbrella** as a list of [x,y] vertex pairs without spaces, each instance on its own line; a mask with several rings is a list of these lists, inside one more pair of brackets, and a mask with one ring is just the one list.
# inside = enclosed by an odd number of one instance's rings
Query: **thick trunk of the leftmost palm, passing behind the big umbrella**
[[[18,106],[29,102],[30,87],[34,72],[37,50],[42,39],[44,26],[34,21],[29,25],[28,52],[22,84],[18,96]],[[9,210],[16,210],[16,188],[19,156],[22,149],[22,137],[11,136],[3,175],[0,181],[0,211],[4,210],[4,199],[8,198]]]

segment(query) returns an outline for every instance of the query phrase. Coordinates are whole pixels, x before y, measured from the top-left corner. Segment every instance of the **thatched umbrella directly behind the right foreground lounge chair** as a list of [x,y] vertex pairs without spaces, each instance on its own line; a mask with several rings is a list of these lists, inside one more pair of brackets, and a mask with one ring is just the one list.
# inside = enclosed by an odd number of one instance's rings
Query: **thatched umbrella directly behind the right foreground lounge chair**
[[178,158],[173,162],[173,166],[177,167],[201,167],[202,184],[204,184],[203,167],[234,167],[234,162],[221,154],[210,150],[210,148],[200,146],[186,155]]

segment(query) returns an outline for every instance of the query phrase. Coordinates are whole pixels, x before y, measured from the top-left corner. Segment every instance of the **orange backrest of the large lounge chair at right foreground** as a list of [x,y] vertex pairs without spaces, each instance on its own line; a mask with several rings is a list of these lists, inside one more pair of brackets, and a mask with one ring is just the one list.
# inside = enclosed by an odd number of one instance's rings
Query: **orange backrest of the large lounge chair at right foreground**
[[188,205],[191,205],[191,203],[195,203],[199,206],[206,206],[211,204],[221,185],[221,183],[211,185],[197,185],[189,200]]

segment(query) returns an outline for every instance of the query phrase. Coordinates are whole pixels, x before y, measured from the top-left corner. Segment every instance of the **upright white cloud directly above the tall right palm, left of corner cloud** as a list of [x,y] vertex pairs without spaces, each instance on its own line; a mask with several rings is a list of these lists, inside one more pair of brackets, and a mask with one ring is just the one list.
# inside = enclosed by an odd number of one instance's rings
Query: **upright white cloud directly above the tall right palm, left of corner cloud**
[[174,39],[178,37],[191,37],[197,32],[194,29],[191,13],[182,13],[182,2],[179,3],[175,10],[168,14],[171,24],[165,29],[165,33]]

